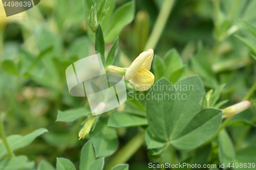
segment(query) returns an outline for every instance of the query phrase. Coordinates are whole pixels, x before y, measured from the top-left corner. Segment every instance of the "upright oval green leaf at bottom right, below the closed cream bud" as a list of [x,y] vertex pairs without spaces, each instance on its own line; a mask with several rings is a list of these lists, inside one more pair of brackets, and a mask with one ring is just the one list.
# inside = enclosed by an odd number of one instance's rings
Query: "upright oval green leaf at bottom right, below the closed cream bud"
[[219,134],[219,160],[221,164],[225,164],[225,169],[228,163],[233,163],[236,156],[233,143],[225,130]]

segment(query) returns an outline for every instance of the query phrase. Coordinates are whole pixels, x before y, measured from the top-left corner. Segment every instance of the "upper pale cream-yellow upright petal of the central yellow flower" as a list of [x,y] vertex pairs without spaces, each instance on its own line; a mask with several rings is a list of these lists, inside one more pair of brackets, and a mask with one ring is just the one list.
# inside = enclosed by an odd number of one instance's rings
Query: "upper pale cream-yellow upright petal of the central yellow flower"
[[132,79],[137,72],[139,71],[139,69],[145,68],[147,70],[150,70],[151,68],[151,63],[154,57],[154,52],[152,49],[141,53],[131,64],[131,66],[127,69],[126,73],[125,73],[125,78],[127,80]]

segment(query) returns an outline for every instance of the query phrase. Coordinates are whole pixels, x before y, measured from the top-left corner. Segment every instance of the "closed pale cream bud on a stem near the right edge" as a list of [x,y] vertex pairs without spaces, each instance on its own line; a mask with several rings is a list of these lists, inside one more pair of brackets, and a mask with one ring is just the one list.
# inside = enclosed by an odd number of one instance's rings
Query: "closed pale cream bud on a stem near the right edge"
[[244,111],[250,107],[251,107],[251,103],[249,101],[244,101],[244,102],[240,102],[236,105],[229,106],[222,110],[223,111],[222,118],[231,117],[233,115],[241,113],[242,111]]

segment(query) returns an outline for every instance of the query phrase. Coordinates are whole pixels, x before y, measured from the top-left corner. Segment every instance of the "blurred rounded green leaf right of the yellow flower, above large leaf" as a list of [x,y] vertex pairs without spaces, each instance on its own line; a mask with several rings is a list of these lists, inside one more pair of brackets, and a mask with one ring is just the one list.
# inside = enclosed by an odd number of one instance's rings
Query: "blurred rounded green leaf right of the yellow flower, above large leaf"
[[164,56],[164,63],[166,71],[164,77],[169,79],[173,72],[177,71],[183,66],[183,62],[177,50],[175,48],[169,50]]

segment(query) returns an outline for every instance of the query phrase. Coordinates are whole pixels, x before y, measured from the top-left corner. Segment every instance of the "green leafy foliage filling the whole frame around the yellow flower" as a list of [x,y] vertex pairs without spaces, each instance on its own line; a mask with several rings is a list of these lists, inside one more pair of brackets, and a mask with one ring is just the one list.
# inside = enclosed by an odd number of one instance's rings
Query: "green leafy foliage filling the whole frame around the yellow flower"
[[[255,0],[42,0],[23,21],[0,22],[0,169],[256,163],[255,8]],[[78,140],[91,114],[87,98],[69,94],[66,68],[95,51],[105,66],[129,67],[148,48],[154,86],[194,91],[185,101],[127,100]],[[179,89],[153,91],[164,92]],[[249,109],[222,119],[246,100]]]

